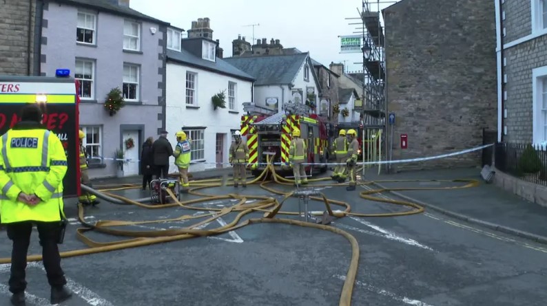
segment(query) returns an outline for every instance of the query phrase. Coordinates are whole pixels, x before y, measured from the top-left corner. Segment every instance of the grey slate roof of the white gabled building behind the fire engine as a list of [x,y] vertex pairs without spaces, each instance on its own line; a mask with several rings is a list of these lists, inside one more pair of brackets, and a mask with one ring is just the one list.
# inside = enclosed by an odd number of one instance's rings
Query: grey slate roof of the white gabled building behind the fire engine
[[229,57],[224,60],[254,76],[255,85],[291,84],[300,71],[308,53],[251,57]]

